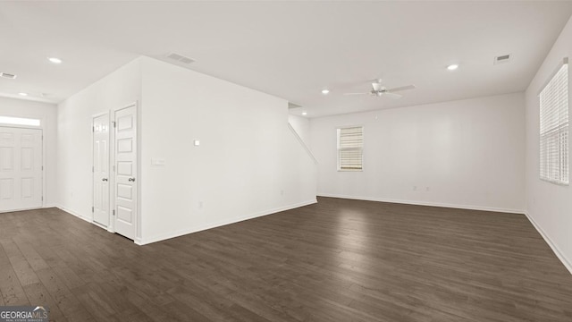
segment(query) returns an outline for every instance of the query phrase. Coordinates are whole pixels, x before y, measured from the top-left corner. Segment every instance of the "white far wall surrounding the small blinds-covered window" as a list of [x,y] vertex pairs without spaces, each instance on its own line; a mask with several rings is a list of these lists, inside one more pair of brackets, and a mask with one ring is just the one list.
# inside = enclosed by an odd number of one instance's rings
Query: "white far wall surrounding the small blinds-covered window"
[[[318,195],[522,213],[522,93],[310,121]],[[338,172],[336,128],[364,126],[364,171]]]

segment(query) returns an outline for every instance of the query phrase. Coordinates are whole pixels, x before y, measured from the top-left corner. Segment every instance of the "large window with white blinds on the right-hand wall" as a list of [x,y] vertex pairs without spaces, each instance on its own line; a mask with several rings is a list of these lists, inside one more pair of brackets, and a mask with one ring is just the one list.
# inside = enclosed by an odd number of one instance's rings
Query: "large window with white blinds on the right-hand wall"
[[540,93],[540,178],[568,184],[568,59]]

